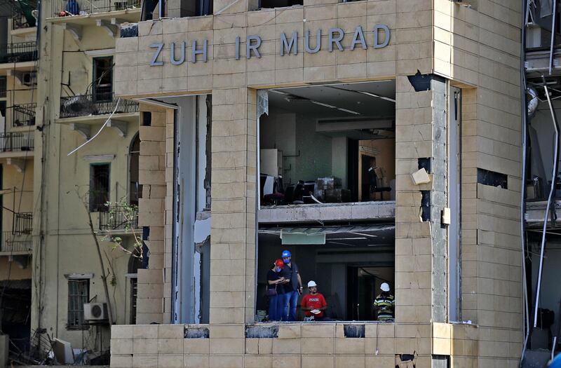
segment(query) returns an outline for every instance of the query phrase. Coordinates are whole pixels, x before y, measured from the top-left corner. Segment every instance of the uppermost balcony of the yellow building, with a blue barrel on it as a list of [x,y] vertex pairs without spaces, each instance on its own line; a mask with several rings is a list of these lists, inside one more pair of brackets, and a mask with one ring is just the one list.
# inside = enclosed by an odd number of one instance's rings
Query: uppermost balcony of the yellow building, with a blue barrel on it
[[140,6],[140,0],[55,0],[48,21],[62,25],[77,40],[88,25],[104,27],[117,36],[121,23],[140,20]]

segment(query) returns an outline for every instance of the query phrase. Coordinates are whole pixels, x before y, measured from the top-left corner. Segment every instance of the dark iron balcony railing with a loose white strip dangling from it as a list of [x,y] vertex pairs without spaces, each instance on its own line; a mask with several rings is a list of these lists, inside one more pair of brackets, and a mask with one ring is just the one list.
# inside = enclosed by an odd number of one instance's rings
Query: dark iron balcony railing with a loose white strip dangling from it
[[[113,93],[95,93],[60,97],[60,118],[77,118],[79,116],[105,115],[113,111],[117,114],[137,112],[138,102],[121,100],[119,107]],[[117,107],[117,109],[115,109]]]

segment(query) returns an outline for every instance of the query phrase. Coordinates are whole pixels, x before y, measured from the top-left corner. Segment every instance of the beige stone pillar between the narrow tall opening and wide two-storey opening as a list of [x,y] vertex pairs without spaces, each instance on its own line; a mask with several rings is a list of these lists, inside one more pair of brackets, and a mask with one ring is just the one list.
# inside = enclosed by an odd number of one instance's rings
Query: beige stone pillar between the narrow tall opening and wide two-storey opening
[[[251,95],[253,103],[248,104],[248,88],[212,93],[211,324],[253,319],[255,93]],[[248,119],[249,114],[254,118]]]

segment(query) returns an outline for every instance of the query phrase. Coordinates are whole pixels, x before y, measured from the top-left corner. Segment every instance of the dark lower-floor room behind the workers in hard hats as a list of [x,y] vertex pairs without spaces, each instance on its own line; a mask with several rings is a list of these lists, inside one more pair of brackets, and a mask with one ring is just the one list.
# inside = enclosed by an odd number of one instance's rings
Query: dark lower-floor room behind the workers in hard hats
[[[376,320],[372,303],[381,283],[388,282],[391,290],[394,285],[394,224],[292,226],[259,227],[257,320],[266,320],[266,273],[283,250],[299,268],[304,294],[310,280],[318,284],[327,318]],[[297,320],[303,318],[297,311]]]

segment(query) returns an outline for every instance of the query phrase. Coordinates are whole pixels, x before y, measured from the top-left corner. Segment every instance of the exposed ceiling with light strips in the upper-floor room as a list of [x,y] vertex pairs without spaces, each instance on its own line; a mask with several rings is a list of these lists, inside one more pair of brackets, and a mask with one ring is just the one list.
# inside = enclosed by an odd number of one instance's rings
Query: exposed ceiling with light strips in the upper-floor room
[[394,80],[280,88],[269,90],[269,111],[311,114],[315,118],[393,118],[396,115],[395,98]]

